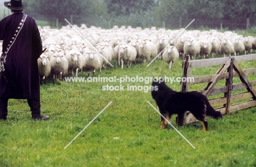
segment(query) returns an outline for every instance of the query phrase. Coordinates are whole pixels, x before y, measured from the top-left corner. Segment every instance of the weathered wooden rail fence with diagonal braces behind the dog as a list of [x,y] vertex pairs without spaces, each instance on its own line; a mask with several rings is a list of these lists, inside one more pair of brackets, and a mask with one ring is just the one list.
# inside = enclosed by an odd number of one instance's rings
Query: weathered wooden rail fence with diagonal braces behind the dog
[[[253,86],[256,85],[256,80],[249,81],[247,76],[256,74],[255,67],[252,69],[242,70],[238,65],[240,61],[256,60],[256,54],[241,55],[236,57],[224,57],[216,59],[203,59],[203,60],[189,60],[189,56],[183,61],[183,79],[181,83],[181,91],[189,91],[190,85],[207,83],[203,90],[198,90],[206,96],[213,96],[223,94],[223,97],[210,99],[211,106],[222,114],[229,114],[236,110],[241,110],[249,107],[256,106],[256,90]],[[193,77],[192,69],[199,67],[208,67],[222,65],[214,75],[195,76],[194,82],[186,81],[189,77]],[[185,78],[184,78],[185,77]],[[241,83],[233,84],[233,78],[239,77]],[[225,79],[225,85],[215,87],[216,84]],[[256,79],[256,77],[255,77]],[[231,94],[232,91],[246,89],[245,92],[238,94]],[[247,100],[246,100],[247,99]],[[248,100],[250,99],[250,100]],[[237,102],[242,101],[243,102]],[[237,103],[236,103],[237,102]],[[233,104],[230,104],[233,103]],[[219,107],[221,106],[221,107]],[[179,126],[184,126],[186,123],[197,121],[196,118],[189,112],[178,115],[176,123]]]

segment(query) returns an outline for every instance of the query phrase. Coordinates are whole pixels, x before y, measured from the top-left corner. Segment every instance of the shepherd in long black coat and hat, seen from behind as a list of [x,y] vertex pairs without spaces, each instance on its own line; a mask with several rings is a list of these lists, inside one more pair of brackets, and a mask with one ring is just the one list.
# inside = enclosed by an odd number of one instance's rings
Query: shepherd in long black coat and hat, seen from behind
[[4,2],[11,15],[0,21],[3,40],[0,76],[0,119],[7,120],[8,100],[27,99],[33,120],[48,120],[40,112],[40,79],[37,59],[42,54],[42,39],[36,22],[24,15],[26,2]]

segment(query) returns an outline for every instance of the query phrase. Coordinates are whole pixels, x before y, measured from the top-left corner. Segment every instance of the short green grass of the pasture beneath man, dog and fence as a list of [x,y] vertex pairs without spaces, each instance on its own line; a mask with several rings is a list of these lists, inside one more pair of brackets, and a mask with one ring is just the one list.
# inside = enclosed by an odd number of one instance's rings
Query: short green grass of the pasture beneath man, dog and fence
[[[180,77],[182,60],[167,69],[156,61],[149,67],[114,67],[96,76]],[[240,63],[255,67],[255,61]],[[215,73],[219,67],[195,69],[193,75]],[[80,77],[86,72],[79,73]],[[255,80],[255,75],[249,80]],[[42,113],[48,121],[32,121],[26,100],[9,100],[7,121],[0,121],[0,166],[256,166],[256,107],[208,119],[208,132],[200,122],[185,127],[160,128],[160,116],[150,92],[103,91],[103,85],[119,83],[67,83],[47,79],[41,86]],[[122,83],[149,86],[145,83]],[[167,83],[179,91],[177,82]],[[192,90],[199,90],[194,86]],[[65,146],[113,101],[66,149]]]

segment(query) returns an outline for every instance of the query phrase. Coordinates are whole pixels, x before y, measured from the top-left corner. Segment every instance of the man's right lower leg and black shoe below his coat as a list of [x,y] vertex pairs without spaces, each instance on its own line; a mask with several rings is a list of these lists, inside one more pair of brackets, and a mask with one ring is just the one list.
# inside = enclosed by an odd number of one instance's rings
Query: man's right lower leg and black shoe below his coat
[[32,115],[33,120],[48,120],[49,119],[49,116],[41,115],[40,100],[28,99],[27,103],[30,106],[31,115]]

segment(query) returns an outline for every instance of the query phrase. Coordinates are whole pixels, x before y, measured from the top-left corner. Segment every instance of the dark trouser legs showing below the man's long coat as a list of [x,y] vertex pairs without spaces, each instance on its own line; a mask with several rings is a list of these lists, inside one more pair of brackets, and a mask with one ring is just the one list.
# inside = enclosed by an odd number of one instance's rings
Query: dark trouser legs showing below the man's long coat
[[[31,109],[32,119],[40,117],[40,100],[28,99],[28,106]],[[6,120],[8,114],[8,98],[0,98],[0,119]]]

